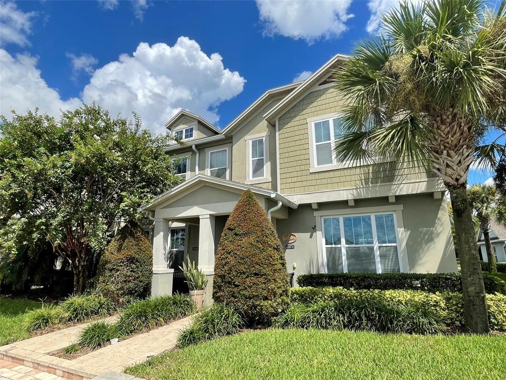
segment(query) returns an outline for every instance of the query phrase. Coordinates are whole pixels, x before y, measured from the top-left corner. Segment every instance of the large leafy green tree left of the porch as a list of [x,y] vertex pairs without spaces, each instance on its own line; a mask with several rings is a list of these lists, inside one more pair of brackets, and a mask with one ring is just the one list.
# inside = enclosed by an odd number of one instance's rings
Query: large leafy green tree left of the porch
[[[38,110],[0,122],[0,236],[22,231],[40,238],[70,264],[73,290],[85,289],[94,253],[115,220],[138,220],[138,207],[178,182],[163,148],[141,121],[94,105],[63,112],[59,121]],[[5,240],[2,241],[6,243]],[[0,247],[3,254],[15,249]]]

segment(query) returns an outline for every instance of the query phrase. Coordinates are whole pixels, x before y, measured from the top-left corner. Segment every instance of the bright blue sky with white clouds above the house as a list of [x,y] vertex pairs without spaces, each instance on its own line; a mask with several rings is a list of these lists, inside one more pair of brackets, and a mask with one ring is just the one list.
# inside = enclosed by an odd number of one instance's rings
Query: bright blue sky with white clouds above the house
[[0,113],[96,100],[155,133],[180,107],[223,128],[267,89],[349,54],[397,4],[2,1]]

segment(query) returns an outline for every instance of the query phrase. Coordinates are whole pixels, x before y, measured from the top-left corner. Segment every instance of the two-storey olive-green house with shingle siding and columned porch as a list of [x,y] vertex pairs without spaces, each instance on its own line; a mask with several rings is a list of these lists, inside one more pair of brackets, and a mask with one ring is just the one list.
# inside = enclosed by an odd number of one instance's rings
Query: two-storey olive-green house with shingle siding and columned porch
[[154,219],[153,294],[172,291],[183,257],[212,280],[221,233],[245,189],[271,218],[296,278],[457,271],[440,179],[388,159],[335,158],[344,102],[328,78],[346,59],[265,92],[223,130],[185,110],[167,122],[185,146],[166,153],[186,159],[184,181],[141,207]]

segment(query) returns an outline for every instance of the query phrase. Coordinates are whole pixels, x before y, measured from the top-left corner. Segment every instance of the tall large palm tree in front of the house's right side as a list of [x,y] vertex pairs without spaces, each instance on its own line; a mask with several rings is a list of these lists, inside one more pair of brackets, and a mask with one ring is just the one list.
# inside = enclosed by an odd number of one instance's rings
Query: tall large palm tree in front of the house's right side
[[471,164],[496,165],[502,146],[480,145],[506,130],[506,15],[481,0],[401,4],[384,16],[383,35],[360,43],[334,74],[348,106],[340,159],[424,165],[451,198],[466,326],[489,330],[485,288],[467,196]]

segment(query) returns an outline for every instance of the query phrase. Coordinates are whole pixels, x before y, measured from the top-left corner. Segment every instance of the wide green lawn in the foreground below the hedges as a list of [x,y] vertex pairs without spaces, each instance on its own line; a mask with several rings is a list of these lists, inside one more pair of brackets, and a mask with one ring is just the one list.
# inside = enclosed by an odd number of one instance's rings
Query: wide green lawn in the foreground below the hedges
[[125,370],[146,379],[498,379],[505,336],[264,330],[168,352]]

